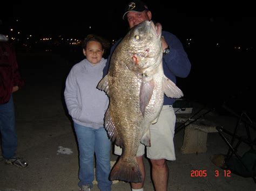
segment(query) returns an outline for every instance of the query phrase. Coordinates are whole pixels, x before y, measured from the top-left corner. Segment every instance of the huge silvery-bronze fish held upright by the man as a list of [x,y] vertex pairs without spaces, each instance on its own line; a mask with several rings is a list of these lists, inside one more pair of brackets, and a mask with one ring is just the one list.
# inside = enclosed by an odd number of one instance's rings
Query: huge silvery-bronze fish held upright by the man
[[142,22],[120,41],[112,54],[109,72],[97,86],[110,98],[105,114],[107,133],[123,148],[110,180],[142,182],[136,160],[138,146],[151,146],[149,127],[157,122],[164,94],[183,96],[164,75],[162,58],[161,25]]

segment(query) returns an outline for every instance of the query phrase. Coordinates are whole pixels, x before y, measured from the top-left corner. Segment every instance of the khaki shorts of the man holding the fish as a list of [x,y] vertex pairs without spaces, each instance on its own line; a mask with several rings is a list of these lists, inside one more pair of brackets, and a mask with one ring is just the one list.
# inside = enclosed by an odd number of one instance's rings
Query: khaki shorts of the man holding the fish
[[[146,147],[150,159],[176,160],[173,137],[176,115],[172,105],[164,105],[156,124],[150,125],[151,146]],[[121,155],[122,148],[114,145],[114,154]],[[145,154],[145,145],[140,144],[137,157]]]

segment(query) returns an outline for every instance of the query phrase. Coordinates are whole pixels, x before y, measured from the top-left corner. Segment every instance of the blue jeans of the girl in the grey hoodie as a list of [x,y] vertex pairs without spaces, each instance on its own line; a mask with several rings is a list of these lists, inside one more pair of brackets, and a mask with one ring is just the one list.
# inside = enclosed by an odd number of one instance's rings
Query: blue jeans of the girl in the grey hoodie
[[93,158],[96,155],[96,179],[100,190],[111,190],[110,174],[111,142],[106,130],[89,128],[74,123],[79,147],[79,182],[78,186],[92,185],[95,178]]

